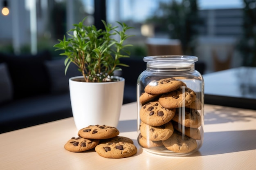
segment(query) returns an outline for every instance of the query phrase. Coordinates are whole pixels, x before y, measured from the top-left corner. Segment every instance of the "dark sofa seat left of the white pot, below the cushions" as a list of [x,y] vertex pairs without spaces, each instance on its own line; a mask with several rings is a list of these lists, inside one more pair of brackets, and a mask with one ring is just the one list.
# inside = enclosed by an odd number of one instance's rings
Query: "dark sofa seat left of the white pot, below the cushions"
[[0,107],[0,133],[71,116],[69,93],[17,99]]

